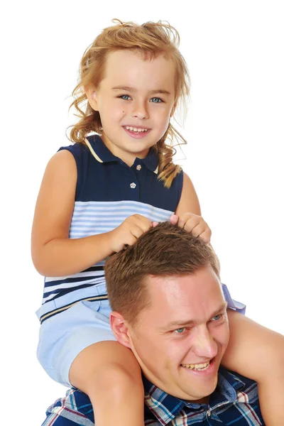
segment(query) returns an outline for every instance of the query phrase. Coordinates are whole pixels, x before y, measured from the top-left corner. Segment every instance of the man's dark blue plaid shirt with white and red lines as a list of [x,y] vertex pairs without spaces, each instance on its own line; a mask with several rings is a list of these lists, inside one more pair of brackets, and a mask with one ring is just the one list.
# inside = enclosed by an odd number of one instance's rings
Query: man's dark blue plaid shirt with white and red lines
[[[145,387],[145,425],[250,425],[263,426],[256,382],[219,369],[218,385],[209,404],[187,403],[168,395],[143,379]],[[111,408],[111,403],[109,404]],[[67,391],[47,412],[42,426],[94,426],[92,405],[86,394]]]

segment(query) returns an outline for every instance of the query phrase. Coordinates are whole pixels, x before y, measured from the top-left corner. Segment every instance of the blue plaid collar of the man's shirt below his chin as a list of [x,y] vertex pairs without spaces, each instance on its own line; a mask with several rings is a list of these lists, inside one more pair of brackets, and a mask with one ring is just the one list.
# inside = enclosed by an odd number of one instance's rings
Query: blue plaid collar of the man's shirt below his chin
[[157,417],[159,422],[167,425],[173,420],[182,409],[185,407],[190,408],[192,413],[200,410],[202,406],[204,409],[220,407],[227,403],[234,403],[238,399],[236,391],[240,391],[246,386],[244,381],[236,376],[236,373],[227,371],[224,368],[219,368],[218,383],[216,390],[212,393],[207,404],[189,403],[186,400],[180,400],[175,396],[161,391],[157,386],[153,385],[146,377],[143,377],[143,384],[145,389],[145,403],[149,410]]

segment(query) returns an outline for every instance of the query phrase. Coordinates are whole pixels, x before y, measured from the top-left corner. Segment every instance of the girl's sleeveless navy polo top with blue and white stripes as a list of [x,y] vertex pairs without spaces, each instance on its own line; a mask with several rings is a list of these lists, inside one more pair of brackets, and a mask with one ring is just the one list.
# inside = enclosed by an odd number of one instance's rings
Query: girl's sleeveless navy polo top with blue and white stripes
[[[115,157],[99,136],[89,136],[87,145],[62,147],[74,155],[77,165],[75,207],[70,239],[109,232],[132,214],[163,222],[175,212],[182,192],[182,173],[170,189],[157,179],[158,158],[153,150],[131,167]],[[94,299],[92,288],[104,283],[104,261],[85,271],[64,277],[45,277],[40,321],[52,317],[79,300]],[[107,298],[107,295],[102,295]]]

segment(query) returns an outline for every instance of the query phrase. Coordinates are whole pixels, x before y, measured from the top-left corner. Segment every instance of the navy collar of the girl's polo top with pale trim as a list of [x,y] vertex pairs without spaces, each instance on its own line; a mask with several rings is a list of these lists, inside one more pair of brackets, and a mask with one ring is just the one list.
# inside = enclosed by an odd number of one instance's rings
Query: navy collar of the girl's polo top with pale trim
[[[85,142],[91,151],[94,158],[96,158],[99,163],[111,163],[119,162],[125,165],[125,163],[119,158],[116,157],[109,148],[104,145],[102,138],[99,135],[88,136],[85,139]],[[155,153],[155,150],[151,148],[146,158],[136,158],[131,167],[136,167],[136,165],[144,163],[146,167],[151,170],[153,173],[158,173],[158,155]]]

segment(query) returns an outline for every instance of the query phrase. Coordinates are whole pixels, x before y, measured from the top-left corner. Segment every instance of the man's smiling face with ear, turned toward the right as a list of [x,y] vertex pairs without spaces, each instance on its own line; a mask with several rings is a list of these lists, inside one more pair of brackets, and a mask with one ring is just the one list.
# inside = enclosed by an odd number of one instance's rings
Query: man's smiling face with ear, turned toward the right
[[205,402],[217,386],[229,341],[226,302],[210,266],[191,275],[147,278],[151,305],[129,327],[145,376],[163,391]]

